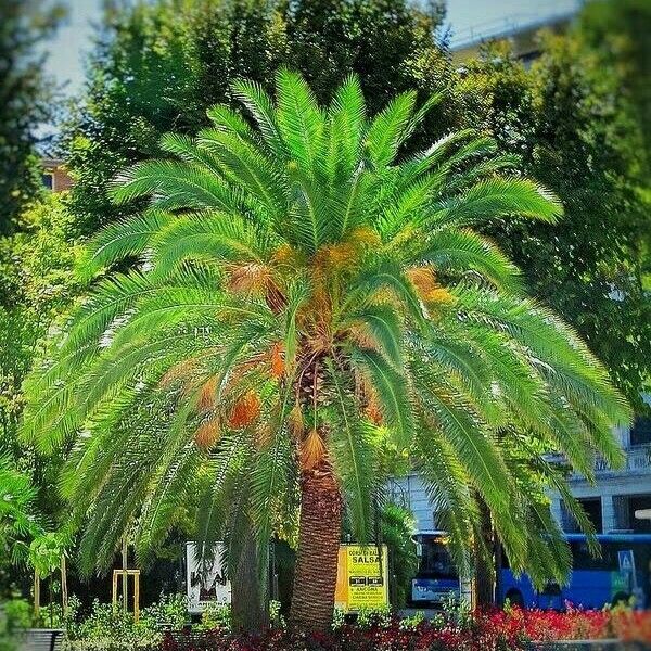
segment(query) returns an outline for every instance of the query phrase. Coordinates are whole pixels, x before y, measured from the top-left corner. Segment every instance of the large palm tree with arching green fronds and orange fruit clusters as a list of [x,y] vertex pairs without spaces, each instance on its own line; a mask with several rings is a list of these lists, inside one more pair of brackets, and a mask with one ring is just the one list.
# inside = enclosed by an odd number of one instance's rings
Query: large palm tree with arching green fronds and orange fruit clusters
[[[212,128],[163,138],[169,159],[119,177],[115,200],[149,207],[105,228],[82,271],[131,270],[94,284],[26,385],[27,437],[85,432],[66,476],[90,508],[89,562],[110,557],[143,499],[154,545],[163,511],[195,492],[202,541],[243,512],[263,549],[298,485],[291,620],[326,628],[343,509],[370,540],[390,447],[422,473],[462,570],[469,542],[481,547],[481,502],[515,571],[562,580],[561,532],[526,486],[544,476],[585,515],[560,473],[512,450],[561,450],[591,476],[596,452],[621,462],[611,426],[628,409],[477,233],[553,222],[559,202],[505,176],[515,161],[472,131],[400,156],[441,95],[417,110],[406,92],[369,118],[354,76],[326,108],[288,71],[275,99],[250,81],[232,92],[245,115],[217,105]],[[135,432],[150,401],[158,413]]]

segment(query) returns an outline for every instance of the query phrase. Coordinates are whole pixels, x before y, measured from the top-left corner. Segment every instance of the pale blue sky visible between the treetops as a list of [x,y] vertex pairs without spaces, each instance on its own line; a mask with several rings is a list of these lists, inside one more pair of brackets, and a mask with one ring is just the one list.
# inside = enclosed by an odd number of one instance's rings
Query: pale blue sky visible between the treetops
[[[66,94],[76,94],[84,81],[84,59],[91,46],[92,23],[102,0],[64,0],[68,18],[49,47],[48,72]],[[509,22],[527,24],[575,8],[580,0],[448,0],[446,22],[452,39],[473,33],[496,33]]]

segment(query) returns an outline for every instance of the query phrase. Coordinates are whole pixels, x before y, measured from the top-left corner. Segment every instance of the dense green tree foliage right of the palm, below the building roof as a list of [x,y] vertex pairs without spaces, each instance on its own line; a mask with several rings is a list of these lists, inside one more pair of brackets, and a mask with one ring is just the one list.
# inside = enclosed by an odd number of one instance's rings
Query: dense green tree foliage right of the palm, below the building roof
[[544,35],[528,69],[506,44],[487,47],[468,62],[458,88],[468,124],[478,122],[500,149],[521,155],[519,168],[552,188],[565,207],[558,227],[494,224],[487,234],[642,409],[640,391],[651,376],[651,204],[648,179],[640,180],[647,154],[640,120],[622,92],[625,63],[608,61],[609,43],[626,48],[631,34],[609,25],[607,40],[591,26],[596,11],[617,13],[616,4],[589,3],[570,34]]

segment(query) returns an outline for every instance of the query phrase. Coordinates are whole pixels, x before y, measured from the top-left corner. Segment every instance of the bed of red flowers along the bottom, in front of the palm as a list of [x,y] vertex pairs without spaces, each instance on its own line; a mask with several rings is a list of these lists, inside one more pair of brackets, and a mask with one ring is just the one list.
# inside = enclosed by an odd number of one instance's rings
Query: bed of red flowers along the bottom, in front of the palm
[[161,651],[519,651],[549,649],[558,640],[592,639],[605,644],[611,638],[618,638],[620,644],[651,643],[651,612],[513,609],[474,613],[457,622],[384,617],[368,626],[344,625],[329,634],[271,630],[260,637],[216,629],[202,635],[168,634]]

